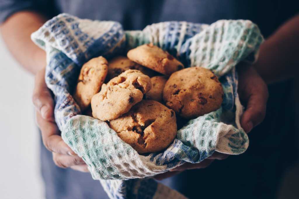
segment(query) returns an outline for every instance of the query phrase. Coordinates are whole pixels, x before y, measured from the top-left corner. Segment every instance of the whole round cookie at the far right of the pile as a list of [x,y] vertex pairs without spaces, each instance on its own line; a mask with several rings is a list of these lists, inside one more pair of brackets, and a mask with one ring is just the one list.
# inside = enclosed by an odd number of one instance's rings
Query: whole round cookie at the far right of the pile
[[213,72],[190,67],[170,76],[163,90],[163,99],[167,107],[184,118],[192,119],[219,109],[223,89]]

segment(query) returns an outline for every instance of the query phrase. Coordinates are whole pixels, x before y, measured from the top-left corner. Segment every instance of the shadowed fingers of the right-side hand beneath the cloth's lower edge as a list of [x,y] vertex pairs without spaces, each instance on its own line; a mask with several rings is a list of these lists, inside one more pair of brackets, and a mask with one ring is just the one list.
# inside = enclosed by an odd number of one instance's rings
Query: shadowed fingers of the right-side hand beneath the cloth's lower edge
[[228,154],[223,154],[223,153],[219,153],[219,152],[214,152],[213,155],[211,155],[210,157],[206,158],[205,160],[201,161],[200,163],[189,163],[186,162],[181,166],[178,166],[174,169],[171,169],[170,171],[167,171],[165,173],[161,173],[158,175],[155,175],[155,179],[156,180],[163,180],[165,178],[169,178],[173,175],[177,175],[181,172],[183,172],[184,170],[188,170],[188,169],[204,169],[206,167],[208,167],[214,160],[224,160],[228,157]]

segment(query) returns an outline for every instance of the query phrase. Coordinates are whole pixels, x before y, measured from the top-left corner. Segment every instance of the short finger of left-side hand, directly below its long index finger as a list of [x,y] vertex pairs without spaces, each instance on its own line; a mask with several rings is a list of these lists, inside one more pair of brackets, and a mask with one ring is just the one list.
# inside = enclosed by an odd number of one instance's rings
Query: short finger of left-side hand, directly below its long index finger
[[78,155],[69,156],[52,152],[53,161],[60,168],[68,168],[76,165],[83,165],[85,162]]

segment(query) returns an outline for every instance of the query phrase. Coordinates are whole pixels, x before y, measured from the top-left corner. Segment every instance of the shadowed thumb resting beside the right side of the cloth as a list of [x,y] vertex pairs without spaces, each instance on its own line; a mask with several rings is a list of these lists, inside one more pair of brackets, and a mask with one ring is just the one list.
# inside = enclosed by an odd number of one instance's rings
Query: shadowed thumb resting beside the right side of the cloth
[[260,124],[266,115],[266,105],[268,100],[268,90],[266,84],[261,82],[259,88],[251,89],[246,110],[241,118],[241,126],[245,132]]

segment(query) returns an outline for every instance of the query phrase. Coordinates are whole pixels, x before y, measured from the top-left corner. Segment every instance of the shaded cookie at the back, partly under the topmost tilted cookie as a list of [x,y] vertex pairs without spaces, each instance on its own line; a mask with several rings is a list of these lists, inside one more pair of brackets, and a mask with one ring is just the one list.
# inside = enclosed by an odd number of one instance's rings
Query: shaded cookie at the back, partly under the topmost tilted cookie
[[119,56],[109,60],[108,64],[108,74],[106,81],[109,81],[112,78],[117,77],[122,72],[126,70],[140,70],[143,74],[152,77],[155,75],[155,71],[150,70],[149,68],[143,67],[140,64],[135,63],[134,61],[129,60],[127,57]]

